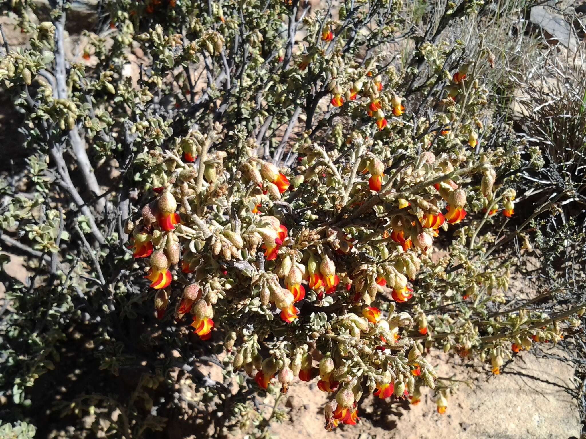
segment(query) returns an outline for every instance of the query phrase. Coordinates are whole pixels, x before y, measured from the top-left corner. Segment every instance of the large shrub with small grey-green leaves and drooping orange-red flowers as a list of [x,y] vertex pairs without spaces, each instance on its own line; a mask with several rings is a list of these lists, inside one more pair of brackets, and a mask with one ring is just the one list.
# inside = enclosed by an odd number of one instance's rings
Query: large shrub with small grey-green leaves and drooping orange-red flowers
[[[493,123],[500,54],[440,38],[481,4],[434,9],[415,38],[401,2],[116,0],[68,60],[70,5],[36,24],[15,2],[30,44],[6,46],[0,78],[30,155],[2,189],[2,242],[38,264],[8,282],[12,403],[32,403],[74,327],[97,360],[84,373],[145,368],[111,424],[125,437],[163,428],[149,389],[208,345],[254,392],[315,380],[332,430],[364,393],[417,404],[430,387],[445,413],[455,383],[432,348],[498,374],[579,324],[583,304],[502,308],[523,144]],[[65,399],[64,414],[127,404]]]

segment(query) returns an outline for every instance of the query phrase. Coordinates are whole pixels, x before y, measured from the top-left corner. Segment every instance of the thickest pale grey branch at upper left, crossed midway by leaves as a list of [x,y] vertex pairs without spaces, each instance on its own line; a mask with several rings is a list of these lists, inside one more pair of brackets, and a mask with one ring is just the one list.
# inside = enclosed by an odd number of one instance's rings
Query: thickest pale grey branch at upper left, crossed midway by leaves
[[[67,71],[65,68],[65,47],[64,47],[64,28],[65,28],[65,11],[61,11],[59,20],[53,22],[55,26],[55,80],[57,82],[57,95],[60,99],[69,99],[69,93],[67,92]],[[103,194],[96,174],[91,167],[90,159],[87,156],[86,142],[81,139],[77,125],[74,125],[73,129],[69,130],[69,143],[73,149],[73,158],[77,162],[83,179],[87,184],[87,188],[93,192],[96,196]],[[99,198],[96,203],[96,210],[101,212],[105,207],[105,198]]]

